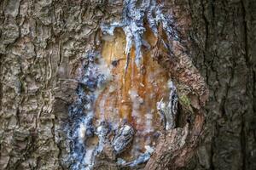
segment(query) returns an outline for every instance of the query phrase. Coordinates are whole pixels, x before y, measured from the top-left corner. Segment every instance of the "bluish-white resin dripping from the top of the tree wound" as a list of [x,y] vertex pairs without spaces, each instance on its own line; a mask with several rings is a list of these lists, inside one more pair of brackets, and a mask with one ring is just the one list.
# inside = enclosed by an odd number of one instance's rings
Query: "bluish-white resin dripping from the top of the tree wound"
[[143,55],[141,48],[145,46],[148,48],[143,39],[143,33],[146,31],[144,27],[144,19],[148,21],[148,25],[154,35],[158,37],[158,26],[162,24],[163,30],[166,32],[168,42],[163,42],[166,48],[171,49],[171,42],[178,40],[177,31],[175,30],[174,19],[172,15],[165,15],[162,13],[161,5],[156,3],[156,0],[143,0],[137,4],[137,0],[124,0],[124,8],[122,20],[115,21],[110,25],[102,24],[101,29],[103,33],[113,35],[115,28],[122,28],[125,32],[126,46],[125,54],[127,61],[131,52],[132,45],[135,46],[135,63],[137,67],[143,63]]

